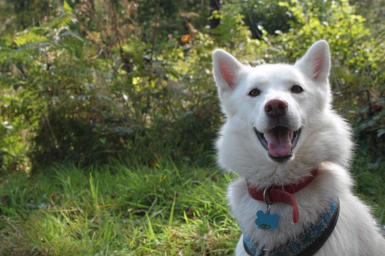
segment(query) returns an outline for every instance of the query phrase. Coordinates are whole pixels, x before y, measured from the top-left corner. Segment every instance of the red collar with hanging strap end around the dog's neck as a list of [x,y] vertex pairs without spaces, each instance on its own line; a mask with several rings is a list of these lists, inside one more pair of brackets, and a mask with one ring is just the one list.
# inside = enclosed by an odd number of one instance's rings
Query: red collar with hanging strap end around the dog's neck
[[[266,200],[271,203],[285,203],[293,206],[293,221],[297,223],[299,220],[299,211],[296,205],[296,199],[294,198],[294,193],[306,187],[318,173],[318,167],[311,171],[311,175],[302,179],[302,181],[295,184],[288,184],[285,186],[271,186],[267,189]],[[251,184],[247,181],[247,190],[251,198],[257,201],[264,201],[264,190],[263,188],[252,187]]]

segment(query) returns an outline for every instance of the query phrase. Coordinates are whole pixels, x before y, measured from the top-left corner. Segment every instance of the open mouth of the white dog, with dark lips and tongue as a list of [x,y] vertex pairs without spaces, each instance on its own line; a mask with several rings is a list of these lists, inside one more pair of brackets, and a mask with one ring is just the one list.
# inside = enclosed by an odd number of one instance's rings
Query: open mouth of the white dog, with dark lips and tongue
[[268,156],[276,162],[285,162],[293,156],[293,150],[301,133],[301,128],[296,131],[283,126],[277,126],[262,133],[254,128],[262,146],[268,151]]

